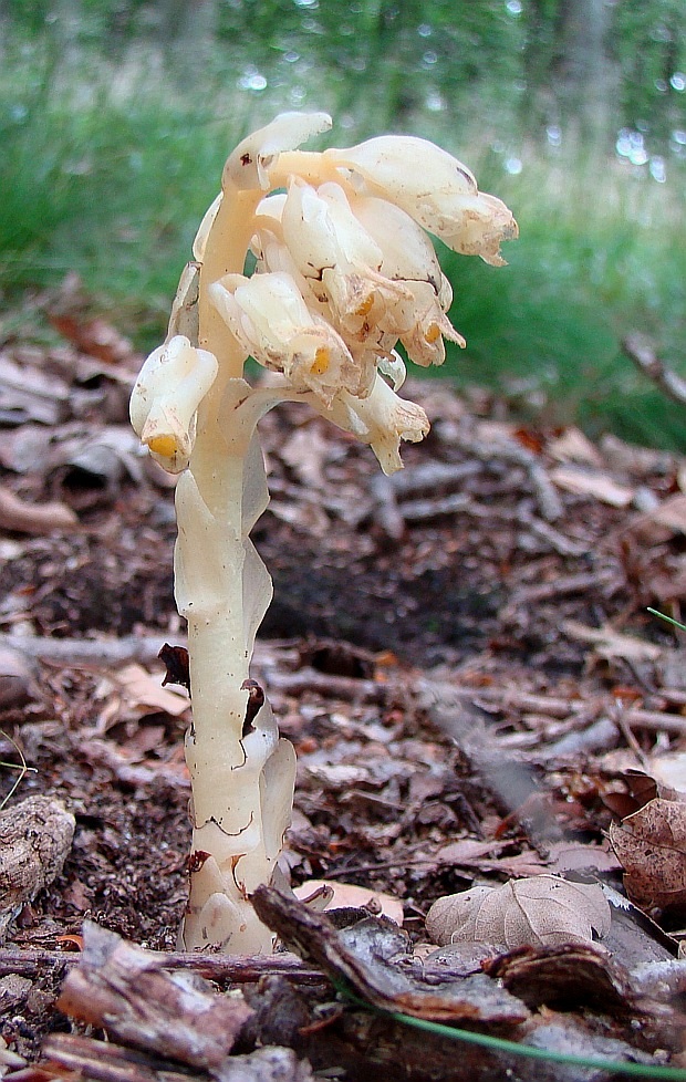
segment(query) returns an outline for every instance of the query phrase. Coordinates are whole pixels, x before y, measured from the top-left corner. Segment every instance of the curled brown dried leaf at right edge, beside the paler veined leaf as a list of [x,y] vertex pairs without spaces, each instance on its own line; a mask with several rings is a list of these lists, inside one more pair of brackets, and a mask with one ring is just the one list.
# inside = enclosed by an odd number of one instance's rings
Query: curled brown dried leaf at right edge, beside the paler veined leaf
[[626,893],[646,908],[686,906],[686,804],[656,798],[610,828]]

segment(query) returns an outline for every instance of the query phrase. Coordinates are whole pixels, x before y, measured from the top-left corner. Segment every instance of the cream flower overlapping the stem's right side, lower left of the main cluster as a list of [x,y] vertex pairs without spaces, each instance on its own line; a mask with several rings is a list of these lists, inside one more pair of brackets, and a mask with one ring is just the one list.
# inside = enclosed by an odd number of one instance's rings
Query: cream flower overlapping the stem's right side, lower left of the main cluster
[[343,389],[368,393],[343,339],[312,315],[289,274],[227,274],[210,292],[246,352],[266,368],[282,372],[293,389],[312,391],[326,406]]

